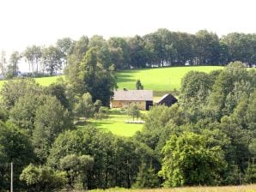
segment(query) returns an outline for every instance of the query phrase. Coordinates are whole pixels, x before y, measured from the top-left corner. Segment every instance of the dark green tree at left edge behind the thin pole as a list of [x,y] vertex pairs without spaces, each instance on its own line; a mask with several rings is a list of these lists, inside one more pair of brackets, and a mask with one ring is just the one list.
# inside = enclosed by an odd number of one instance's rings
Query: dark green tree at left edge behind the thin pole
[[14,165],[15,189],[21,191],[19,175],[24,166],[34,162],[34,148],[27,134],[12,123],[0,121],[0,189],[9,190],[9,163]]

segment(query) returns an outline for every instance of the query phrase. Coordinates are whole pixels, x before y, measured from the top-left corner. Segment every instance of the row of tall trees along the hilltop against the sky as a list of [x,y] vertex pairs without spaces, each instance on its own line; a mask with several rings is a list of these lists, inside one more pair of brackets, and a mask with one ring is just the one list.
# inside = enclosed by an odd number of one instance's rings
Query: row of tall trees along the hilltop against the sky
[[54,75],[67,63],[80,62],[92,48],[96,49],[103,65],[112,63],[116,70],[185,64],[225,65],[234,61],[255,66],[255,45],[255,33],[229,33],[219,38],[216,33],[206,30],[191,34],[162,28],[155,33],[130,38],[106,40],[94,35],[90,39],[87,36],[78,40],[58,39],[56,45],[30,45],[24,51],[14,51],[9,60],[2,51],[0,70],[4,78],[19,75],[18,64],[23,58],[29,66],[26,75]]

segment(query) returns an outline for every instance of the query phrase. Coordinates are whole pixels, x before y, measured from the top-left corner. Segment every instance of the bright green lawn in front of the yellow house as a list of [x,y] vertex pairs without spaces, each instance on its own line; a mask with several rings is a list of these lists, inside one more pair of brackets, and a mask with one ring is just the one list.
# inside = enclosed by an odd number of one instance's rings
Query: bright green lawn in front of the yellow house
[[[145,112],[145,111],[143,111]],[[143,128],[143,124],[137,123],[125,123],[127,120],[132,120],[132,117],[121,113],[119,110],[112,109],[110,110],[110,115],[106,119],[90,119],[89,123],[92,123],[96,128],[110,131],[114,135],[119,136],[132,136],[137,131]],[[136,120],[136,119],[135,119]],[[82,125],[79,125],[78,128],[82,128]]]

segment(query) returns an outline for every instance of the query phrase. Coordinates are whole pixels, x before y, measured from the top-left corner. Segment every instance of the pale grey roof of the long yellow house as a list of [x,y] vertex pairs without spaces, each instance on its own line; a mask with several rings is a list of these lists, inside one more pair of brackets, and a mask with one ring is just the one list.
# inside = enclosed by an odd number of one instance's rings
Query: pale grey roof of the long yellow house
[[113,100],[153,100],[152,90],[115,91]]

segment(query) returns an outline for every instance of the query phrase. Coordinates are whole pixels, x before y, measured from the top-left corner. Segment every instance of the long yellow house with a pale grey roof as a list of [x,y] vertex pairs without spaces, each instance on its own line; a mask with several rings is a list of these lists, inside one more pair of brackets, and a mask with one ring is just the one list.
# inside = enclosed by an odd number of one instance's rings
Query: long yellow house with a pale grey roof
[[120,90],[115,91],[111,99],[111,108],[127,107],[136,104],[140,110],[149,110],[153,105],[152,90]]

